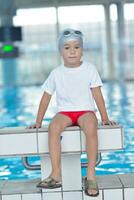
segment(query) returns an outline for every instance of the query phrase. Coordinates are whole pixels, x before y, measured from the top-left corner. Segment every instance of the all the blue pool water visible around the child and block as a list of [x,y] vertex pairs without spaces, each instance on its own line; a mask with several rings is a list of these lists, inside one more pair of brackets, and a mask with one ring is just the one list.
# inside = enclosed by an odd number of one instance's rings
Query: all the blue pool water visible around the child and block
[[[97,174],[134,173],[134,83],[106,82],[103,87],[106,107],[112,120],[124,127],[124,150],[103,153],[96,167]],[[28,126],[36,117],[41,90],[39,86],[0,88],[0,128]],[[44,124],[48,124],[55,113],[54,99],[49,107]],[[98,115],[99,117],[99,115]],[[115,138],[116,140],[116,138]],[[82,157],[82,162],[85,157]],[[39,158],[30,158],[39,164]],[[85,174],[86,169],[82,170]],[[33,179],[40,177],[40,170],[24,168],[21,158],[0,159],[0,179]]]

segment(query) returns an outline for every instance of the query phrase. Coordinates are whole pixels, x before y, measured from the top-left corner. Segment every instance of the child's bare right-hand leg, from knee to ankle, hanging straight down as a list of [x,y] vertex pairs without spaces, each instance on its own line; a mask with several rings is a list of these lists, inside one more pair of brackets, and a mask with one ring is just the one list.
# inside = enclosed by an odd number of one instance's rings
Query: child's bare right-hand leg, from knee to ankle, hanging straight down
[[[86,151],[88,158],[87,179],[95,180],[95,165],[98,150],[97,118],[94,113],[83,114],[78,119],[78,124],[86,136]],[[96,193],[96,191],[89,191]]]

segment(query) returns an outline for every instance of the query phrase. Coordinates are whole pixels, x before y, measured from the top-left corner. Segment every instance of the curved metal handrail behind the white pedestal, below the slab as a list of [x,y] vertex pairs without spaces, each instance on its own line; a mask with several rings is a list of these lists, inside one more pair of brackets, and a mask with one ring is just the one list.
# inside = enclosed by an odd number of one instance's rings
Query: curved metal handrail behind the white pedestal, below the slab
[[[101,156],[101,152],[99,152],[97,154],[97,160],[96,160],[96,166],[100,164],[102,160],[102,156]],[[22,157],[22,163],[24,165],[24,167],[28,170],[40,170],[41,169],[41,165],[31,165],[29,162],[28,162],[28,157]],[[88,166],[88,163],[85,162],[85,163],[81,163],[81,167],[82,168],[86,168]]]

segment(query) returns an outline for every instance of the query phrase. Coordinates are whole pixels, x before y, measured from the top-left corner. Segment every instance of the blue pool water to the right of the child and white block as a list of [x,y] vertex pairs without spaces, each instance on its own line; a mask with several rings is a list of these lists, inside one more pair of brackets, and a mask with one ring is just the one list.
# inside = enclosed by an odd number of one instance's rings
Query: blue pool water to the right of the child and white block
[[124,150],[103,154],[97,173],[131,173],[134,172],[133,83],[107,83],[104,87],[109,115],[124,127]]

